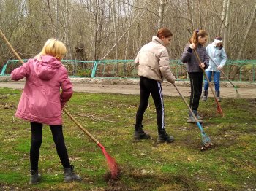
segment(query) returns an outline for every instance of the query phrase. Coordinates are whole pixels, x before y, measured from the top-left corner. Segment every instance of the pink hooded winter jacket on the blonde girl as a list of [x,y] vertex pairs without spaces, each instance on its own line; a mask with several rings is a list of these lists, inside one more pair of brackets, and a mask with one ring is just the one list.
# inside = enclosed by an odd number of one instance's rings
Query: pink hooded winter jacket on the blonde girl
[[73,93],[67,69],[53,56],[42,55],[41,59],[29,59],[12,71],[12,80],[24,77],[26,84],[15,116],[30,122],[61,125],[61,107]]

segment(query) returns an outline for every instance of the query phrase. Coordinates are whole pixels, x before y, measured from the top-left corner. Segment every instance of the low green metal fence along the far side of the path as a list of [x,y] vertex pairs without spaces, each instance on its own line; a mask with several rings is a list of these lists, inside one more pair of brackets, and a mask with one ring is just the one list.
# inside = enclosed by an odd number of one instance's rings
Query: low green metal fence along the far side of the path
[[[26,62],[27,60],[23,60]],[[138,66],[134,60],[105,60],[105,61],[75,61],[62,60],[66,66],[69,77],[89,78],[138,78]],[[18,60],[9,60],[4,64],[1,76],[10,75],[13,69],[21,66]],[[238,72],[233,77],[234,82],[255,82],[256,60],[227,61],[224,71],[229,77],[230,71],[237,67]],[[177,80],[188,80],[184,63],[179,60],[170,61],[170,69]],[[221,74],[221,80],[227,81]]]

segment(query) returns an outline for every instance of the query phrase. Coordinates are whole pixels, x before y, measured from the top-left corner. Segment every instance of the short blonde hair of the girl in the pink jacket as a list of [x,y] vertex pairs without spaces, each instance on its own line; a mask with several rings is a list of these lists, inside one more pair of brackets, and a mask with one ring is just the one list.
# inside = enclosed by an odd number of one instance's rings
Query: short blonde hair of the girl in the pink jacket
[[39,55],[52,55],[60,61],[66,52],[67,48],[62,42],[56,39],[48,39]]

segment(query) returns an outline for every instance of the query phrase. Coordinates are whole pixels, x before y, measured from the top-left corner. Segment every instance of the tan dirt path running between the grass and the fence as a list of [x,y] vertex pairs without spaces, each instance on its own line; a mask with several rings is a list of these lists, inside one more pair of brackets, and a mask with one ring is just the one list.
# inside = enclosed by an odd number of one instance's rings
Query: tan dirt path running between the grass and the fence
[[[133,82],[133,84],[102,84],[99,82],[73,82],[73,90],[76,92],[86,92],[86,93],[121,93],[121,94],[140,94],[140,89],[138,81]],[[176,83],[178,89],[181,91],[182,95],[190,95],[190,87],[184,86],[183,84]],[[24,82],[0,82],[0,87],[10,87],[14,89],[23,89]],[[163,83],[162,85],[163,93],[167,96],[178,96],[175,87]],[[256,98],[256,87],[239,87],[238,93],[240,98]],[[209,97],[213,95],[209,93]],[[236,98],[236,90],[234,87],[221,87],[222,98]]]

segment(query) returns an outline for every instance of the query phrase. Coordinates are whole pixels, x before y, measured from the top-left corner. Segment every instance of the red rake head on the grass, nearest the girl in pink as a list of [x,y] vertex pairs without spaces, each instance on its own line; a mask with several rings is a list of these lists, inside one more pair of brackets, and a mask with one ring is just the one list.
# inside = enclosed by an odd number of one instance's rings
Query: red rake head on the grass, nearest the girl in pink
[[121,174],[121,169],[116,163],[116,160],[114,160],[113,157],[110,157],[110,155],[108,155],[108,152],[106,152],[102,144],[98,143],[98,146],[102,149],[102,152],[105,155],[105,158],[107,160],[108,169],[110,170],[110,174],[111,174],[111,179],[118,179],[118,176]]

